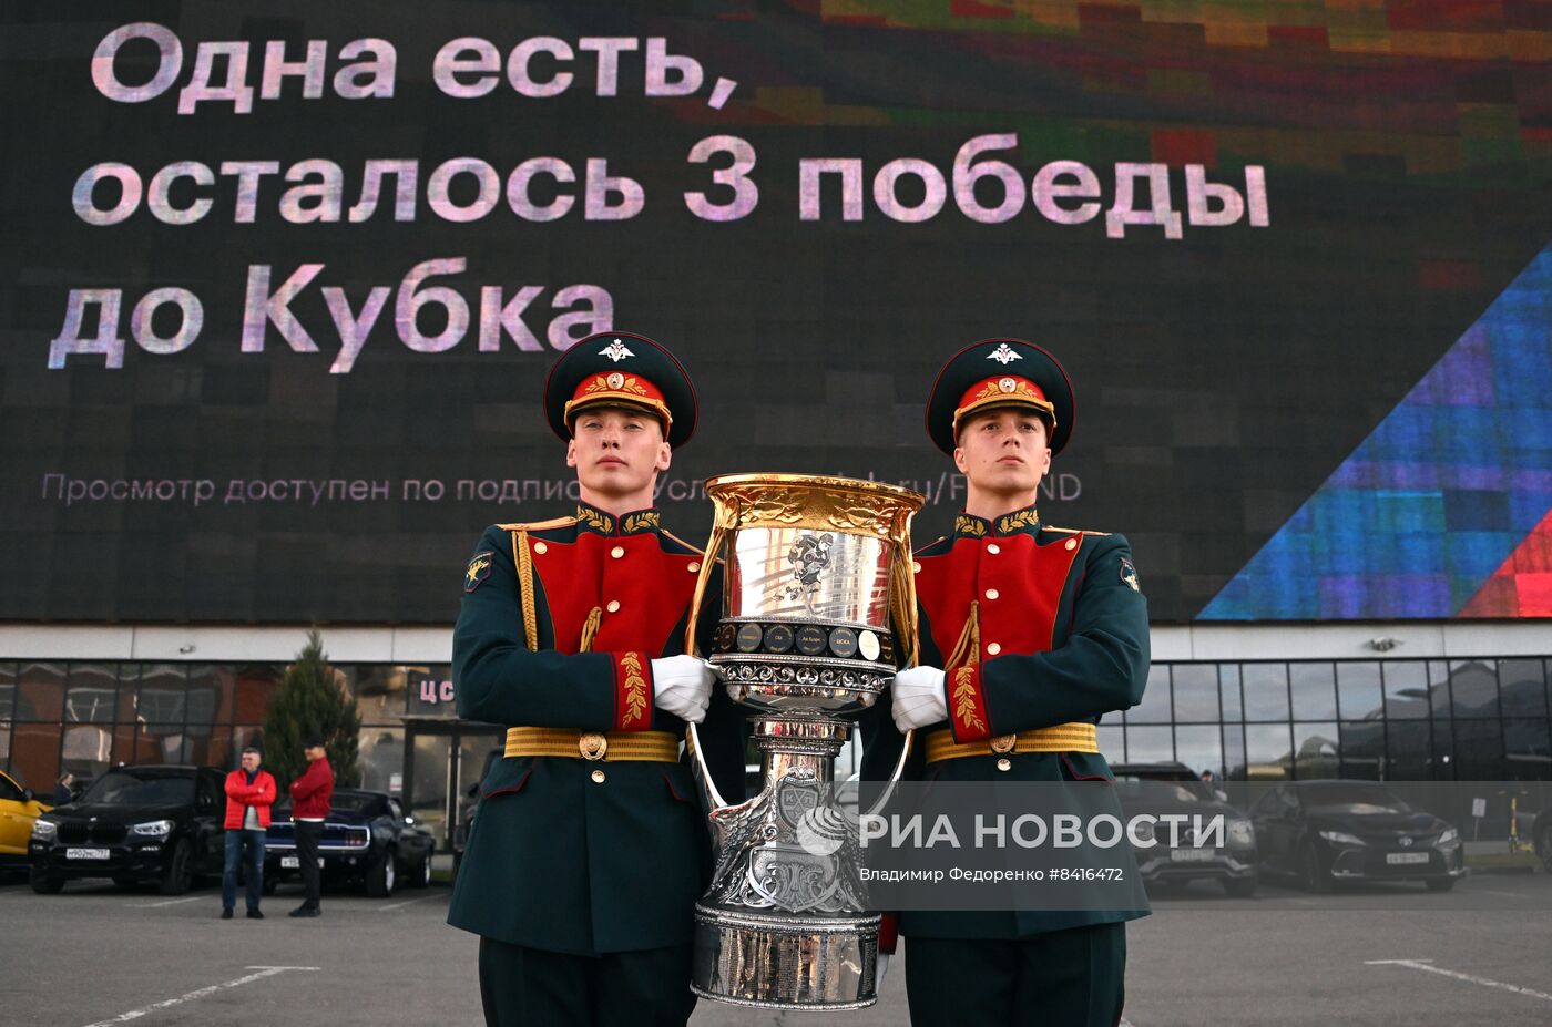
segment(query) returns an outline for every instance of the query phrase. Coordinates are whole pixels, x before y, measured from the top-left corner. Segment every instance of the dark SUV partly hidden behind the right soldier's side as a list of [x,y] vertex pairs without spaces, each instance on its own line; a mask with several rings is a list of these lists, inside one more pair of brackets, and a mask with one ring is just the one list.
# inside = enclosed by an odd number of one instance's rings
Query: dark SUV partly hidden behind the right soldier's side
[[1221,802],[1184,763],[1116,763],[1111,771],[1121,808],[1136,824],[1131,852],[1144,884],[1217,881],[1234,898],[1256,894],[1249,818]]

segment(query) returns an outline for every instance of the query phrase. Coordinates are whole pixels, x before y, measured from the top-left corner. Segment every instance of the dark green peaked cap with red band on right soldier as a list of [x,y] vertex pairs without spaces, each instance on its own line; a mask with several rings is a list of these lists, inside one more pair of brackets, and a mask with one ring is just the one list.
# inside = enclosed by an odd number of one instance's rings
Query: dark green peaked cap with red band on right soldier
[[1072,437],[1072,382],[1049,352],[1020,338],[989,338],[954,354],[927,397],[927,434],[950,456],[965,417],[1024,406],[1046,422],[1051,451]]

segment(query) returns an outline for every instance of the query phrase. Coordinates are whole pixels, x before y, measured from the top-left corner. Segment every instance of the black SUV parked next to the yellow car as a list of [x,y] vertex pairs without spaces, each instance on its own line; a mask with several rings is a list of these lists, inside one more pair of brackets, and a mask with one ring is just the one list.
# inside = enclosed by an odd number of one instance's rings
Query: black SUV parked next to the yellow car
[[116,766],[76,802],[33,822],[33,890],[56,894],[92,877],[155,881],[182,895],[196,875],[219,877],[225,835],[223,776],[208,766]]

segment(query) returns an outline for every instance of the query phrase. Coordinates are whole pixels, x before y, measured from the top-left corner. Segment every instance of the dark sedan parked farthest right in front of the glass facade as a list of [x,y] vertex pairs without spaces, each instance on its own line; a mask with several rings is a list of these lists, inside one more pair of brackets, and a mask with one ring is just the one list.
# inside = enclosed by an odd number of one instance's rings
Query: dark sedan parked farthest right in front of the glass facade
[[1336,881],[1423,881],[1446,892],[1465,877],[1460,833],[1370,780],[1279,785],[1251,807],[1262,872],[1311,892]]

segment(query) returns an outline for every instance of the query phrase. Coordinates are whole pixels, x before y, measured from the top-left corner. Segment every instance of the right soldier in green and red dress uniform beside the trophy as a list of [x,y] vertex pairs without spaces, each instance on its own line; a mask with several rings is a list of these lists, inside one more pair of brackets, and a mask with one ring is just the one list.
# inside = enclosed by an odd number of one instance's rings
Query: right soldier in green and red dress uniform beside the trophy
[[[894,728],[917,729],[913,779],[1111,779],[1096,724],[1142,698],[1147,602],[1125,538],[1035,512],[1072,414],[1062,365],[1020,340],[961,351],[933,385],[927,430],[967,501],[953,534],[916,554],[920,666],[896,676],[891,704]],[[882,715],[869,734],[863,776],[886,777],[900,735]],[[1113,1027],[1125,920],[1145,914],[902,912],[911,1022]]]

